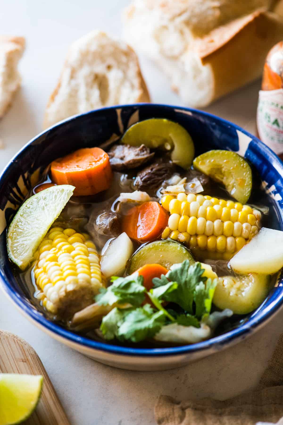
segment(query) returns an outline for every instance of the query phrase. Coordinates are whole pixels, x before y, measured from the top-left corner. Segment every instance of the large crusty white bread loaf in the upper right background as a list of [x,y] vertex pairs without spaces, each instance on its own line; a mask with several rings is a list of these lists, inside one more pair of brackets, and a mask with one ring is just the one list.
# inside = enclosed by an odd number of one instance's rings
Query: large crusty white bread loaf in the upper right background
[[261,76],[283,19],[268,0],[134,0],[124,38],[155,60],[187,105],[204,107]]

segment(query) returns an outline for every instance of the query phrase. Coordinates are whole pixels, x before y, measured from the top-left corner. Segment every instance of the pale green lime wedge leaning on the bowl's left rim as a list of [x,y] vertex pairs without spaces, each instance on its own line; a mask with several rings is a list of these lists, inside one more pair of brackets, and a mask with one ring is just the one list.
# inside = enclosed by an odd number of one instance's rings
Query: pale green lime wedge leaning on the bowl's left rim
[[73,194],[74,186],[48,187],[28,198],[19,208],[7,232],[10,259],[24,270],[51,224],[59,217]]

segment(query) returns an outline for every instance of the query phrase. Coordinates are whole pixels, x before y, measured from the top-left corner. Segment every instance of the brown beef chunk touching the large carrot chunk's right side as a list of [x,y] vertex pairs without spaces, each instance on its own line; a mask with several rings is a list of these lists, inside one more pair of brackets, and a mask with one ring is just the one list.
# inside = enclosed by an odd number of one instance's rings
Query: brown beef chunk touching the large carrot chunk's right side
[[154,153],[150,153],[144,144],[140,146],[116,144],[109,150],[108,155],[112,170],[123,171],[140,167],[153,158]]

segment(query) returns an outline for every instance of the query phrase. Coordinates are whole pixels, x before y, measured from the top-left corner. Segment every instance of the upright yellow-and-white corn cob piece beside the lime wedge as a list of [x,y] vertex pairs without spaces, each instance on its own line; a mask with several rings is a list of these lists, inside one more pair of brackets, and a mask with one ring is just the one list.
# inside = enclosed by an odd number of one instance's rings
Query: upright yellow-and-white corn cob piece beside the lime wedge
[[103,286],[98,253],[89,236],[62,227],[51,227],[40,244],[34,278],[42,305],[65,318],[91,304]]

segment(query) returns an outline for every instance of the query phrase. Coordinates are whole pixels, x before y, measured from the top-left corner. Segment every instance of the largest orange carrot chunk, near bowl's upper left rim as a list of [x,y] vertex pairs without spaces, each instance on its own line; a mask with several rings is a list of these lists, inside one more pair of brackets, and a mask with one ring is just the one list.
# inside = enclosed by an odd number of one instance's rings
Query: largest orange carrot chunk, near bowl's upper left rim
[[112,170],[109,156],[99,147],[85,147],[51,163],[56,184],[72,184],[74,195],[95,195],[109,188]]

